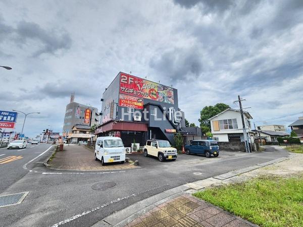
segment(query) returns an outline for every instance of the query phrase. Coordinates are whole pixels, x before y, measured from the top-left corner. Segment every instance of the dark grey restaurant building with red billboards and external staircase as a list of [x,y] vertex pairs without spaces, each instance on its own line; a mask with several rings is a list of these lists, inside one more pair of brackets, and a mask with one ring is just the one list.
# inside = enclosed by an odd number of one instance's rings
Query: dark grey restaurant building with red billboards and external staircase
[[101,99],[101,125],[97,136],[121,137],[124,146],[147,139],[169,140],[185,127],[175,88],[120,72]]

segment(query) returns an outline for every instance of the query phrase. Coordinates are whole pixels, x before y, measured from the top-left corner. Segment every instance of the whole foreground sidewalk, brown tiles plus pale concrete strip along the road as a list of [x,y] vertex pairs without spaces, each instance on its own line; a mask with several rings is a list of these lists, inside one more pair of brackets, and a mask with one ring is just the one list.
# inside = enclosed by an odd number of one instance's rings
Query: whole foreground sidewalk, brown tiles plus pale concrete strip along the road
[[[293,157],[277,158],[223,175],[200,180],[164,191],[115,212],[93,227],[99,226],[257,226],[206,201],[191,196],[197,190],[233,183],[242,175]],[[291,160],[290,160],[291,161]]]

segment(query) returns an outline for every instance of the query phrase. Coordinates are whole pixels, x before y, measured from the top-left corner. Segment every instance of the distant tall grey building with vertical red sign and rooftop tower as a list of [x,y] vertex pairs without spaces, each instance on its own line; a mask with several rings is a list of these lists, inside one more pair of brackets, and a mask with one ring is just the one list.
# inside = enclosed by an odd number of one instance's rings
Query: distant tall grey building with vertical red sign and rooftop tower
[[99,124],[100,116],[98,108],[74,102],[74,94],[71,95],[70,100],[72,102],[66,105],[64,116],[64,137],[66,137],[67,135],[71,135],[72,129],[76,124],[82,124],[87,126]]

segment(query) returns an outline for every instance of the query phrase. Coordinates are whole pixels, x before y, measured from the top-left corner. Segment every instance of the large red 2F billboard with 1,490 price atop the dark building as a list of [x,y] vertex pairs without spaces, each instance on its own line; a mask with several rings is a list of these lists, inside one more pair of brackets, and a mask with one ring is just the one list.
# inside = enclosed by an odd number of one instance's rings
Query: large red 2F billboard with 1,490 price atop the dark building
[[142,78],[121,73],[120,93],[174,104],[174,89]]

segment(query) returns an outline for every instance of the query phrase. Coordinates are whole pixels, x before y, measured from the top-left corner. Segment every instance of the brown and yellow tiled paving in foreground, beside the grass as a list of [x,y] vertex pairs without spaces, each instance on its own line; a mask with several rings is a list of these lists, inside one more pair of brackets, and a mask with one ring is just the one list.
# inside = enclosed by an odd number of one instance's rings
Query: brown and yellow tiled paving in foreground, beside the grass
[[256,226],[205,201],[184,194],[156,206],[130,226]]

